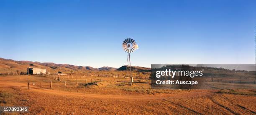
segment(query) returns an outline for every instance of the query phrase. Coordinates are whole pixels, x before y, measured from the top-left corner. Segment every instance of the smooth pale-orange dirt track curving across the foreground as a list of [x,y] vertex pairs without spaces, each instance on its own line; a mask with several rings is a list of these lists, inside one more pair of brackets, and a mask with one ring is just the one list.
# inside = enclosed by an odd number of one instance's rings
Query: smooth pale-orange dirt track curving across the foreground
[[[25,83],[17,83],[17,82],[6,82],[6,81],[0,81],[0,86],[5,88],[20,88],[23,90],[27,89],[27,84]],[[37,92],[37,93],[47,93],[52,95],[61,95],[61,96],[69,96],[69,97],[90,97],[90,98],[111,98],[111,99],[134,99],[134,100],[148,100],[148,99],[164,99],[166,97],[168,98],[193,98],[193,97],[200,97],[200,96],[210,96],[213,95],[213,93],[210,93],[209,91],[201,91],[201,92],[192,92],[188,95],[184,94],[175,94],[175,95],[147,95],[147,96],[141,96],[141,95],[109,95],[109,94],[90,94],[90,93],[74,93],[74,92],[67,92],[67,91],[57,91],[57,90],[51,90],[51,89],[40,89],[36,86],[30,85],[30,90]]]

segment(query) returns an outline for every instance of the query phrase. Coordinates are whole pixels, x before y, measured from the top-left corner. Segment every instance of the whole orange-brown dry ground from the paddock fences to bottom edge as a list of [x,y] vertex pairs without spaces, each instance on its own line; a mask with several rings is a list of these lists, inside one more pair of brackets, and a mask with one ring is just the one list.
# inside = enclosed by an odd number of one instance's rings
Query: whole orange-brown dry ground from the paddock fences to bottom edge
[[[143,82],[148,83],[129,86],[127,82],[117,82],[124,79],[97,77],[102,81],[92,80],[91,83],[91,78],[94,77],[86,77],[87,83],[78,78],[78,85],[76,79],[53,81],[49,89],[51,78],[48,77],[0,77],[3,86],[0,87],[0,104],[29,106],[30,114],[248,115],[256,111],[256,90],[154,90],[147,80]],[[28,81],[30,90],[26,89]],[[39,88],[40,82],[43,89]]]

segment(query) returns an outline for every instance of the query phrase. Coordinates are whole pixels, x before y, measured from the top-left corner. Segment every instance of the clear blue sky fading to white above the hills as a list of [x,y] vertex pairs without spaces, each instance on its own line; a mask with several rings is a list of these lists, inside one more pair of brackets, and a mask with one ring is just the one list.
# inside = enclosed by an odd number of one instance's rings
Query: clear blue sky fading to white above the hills
[[255,0],[0,0],[0,57],[80,66],[255,64]]

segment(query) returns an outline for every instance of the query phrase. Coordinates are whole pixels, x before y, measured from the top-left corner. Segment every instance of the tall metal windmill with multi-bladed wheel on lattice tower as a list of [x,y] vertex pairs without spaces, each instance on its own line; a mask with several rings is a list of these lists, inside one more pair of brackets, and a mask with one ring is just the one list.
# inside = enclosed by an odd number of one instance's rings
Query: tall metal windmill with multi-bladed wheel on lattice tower
[[132,85],[132,74],[131,74],[131,58],[130,58],[130,53],[138,49],[138,44],[135,42],[134,39],[127,38],[123,41],[123,50],[128,53],[127,55],[127,62],[126,62],[126,71],[125,71],[125,76],[127,71],[130,72],[130,78],[131,78],[131,85]]

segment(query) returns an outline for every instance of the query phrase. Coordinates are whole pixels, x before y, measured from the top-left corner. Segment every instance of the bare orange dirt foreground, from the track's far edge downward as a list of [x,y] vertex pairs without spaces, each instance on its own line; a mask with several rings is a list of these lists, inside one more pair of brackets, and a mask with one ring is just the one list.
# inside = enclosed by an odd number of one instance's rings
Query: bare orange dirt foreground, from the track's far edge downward
[[6,90],[17,93],[14,105],[29,106],[30,114],[254,114],[256,102],[255,96],[209,90],[154,95],[75,93],[33,85],[28,90],[26,82],[2,77],[0,91]]

